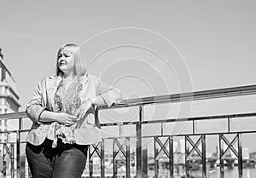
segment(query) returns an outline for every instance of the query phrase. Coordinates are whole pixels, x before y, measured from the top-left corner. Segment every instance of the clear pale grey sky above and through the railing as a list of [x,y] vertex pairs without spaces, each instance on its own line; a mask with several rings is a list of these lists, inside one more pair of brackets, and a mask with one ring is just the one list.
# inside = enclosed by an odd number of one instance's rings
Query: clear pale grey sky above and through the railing
[[[79,44],[88,71],[121,89],[124,99],[256,82],[255,1],[4,1],[0,15],[0,48],[20,111],[38,82],[55,74],[65,43]],[[253,106],[255,96],[196,101],[184,111],[147,106],[145,117],[255,112]],[[120,110],[106,122],[133,120],[136,111]]]

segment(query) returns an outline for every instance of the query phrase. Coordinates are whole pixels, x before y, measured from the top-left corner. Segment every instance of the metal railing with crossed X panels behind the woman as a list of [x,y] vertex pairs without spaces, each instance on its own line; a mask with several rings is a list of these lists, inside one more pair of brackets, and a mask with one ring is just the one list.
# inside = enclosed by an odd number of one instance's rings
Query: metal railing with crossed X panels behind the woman
[[[120,123],[102,123],[102,128],[104,127],[113,127],[117,126],[119,129],[125,127],[127,125],[135,126],[136,135],[135,136],[116,136],[116,137],[108,137],[104,138],[101,143],[98,145],[90,146],[89,151],[89,176],[93,177],[93,158],[94,154],[96,154],[101,160],[101,177],[107,177],[105,174],[105,148],[106,141],[113,141],[113,177],[118,177],[118,164],[117,164],[117,155],[119,152],[125,158],[125,177],[131,177],[133,175],[137,177],[148,177],[148,154],[147,147],[143,147],[143,139],[152,138],[154,140],[154,177],[159,177],[159,157],[161,155],[165,155],[168,158],[168,176],[174,177],[174,169],[177,166],[174,163],[174,150],[173,150],[173,140],[175,137],[183,137],[185,144],[184,151],[184,162],[182,166],[184,166],[185,176],[190,177],[191,169],[191,159],[195,159],[195,154],[197,155],[197,161],[201,160],[201,177],[207,177],[207,151],[206,151],[206,138],[208,135],[218,135],[218,160],[219,160],[219,169],[220,169],[220,177],[224,178],[224,160],[227,160],[226,155],[227,152],[234,152],[236,159],[238,161],[238,177],[242,177],[242,146],[241,146],[241,135],[256,133],[256,128],[253,130],[231,130],[230,129],[230,119],[236,118],[253,118],[256,117],[256,112],[249,113],[237,113],[231,115],[218,115],[218,116],[207,116],[207,117],[196,117],[196,118],[167,118],[161,120],[144,120],[144,106],[148,105],[156,105],[160,103],[173,103],[173,102],[183,102],[183,101],[192,101],[192,100],[208,100],[208,99],[216,99],[223,97],[231,97],[231,96],[241,96],[241,95],[255,95],[256,94],[256,85],[250,86],[242,86],[235,88],[227,88],[227,89],[211,89],[205,91],[197,91],[190,93],[182,93],[175,95],[160,95],[160,96],[152,96],[152,97],[144,97],[138,99],[131,100],[122,100],[120,103],[107,108],[103,106],[99,108],[99,110],[106,109],[115,109],[115,108],[123,108],[129,106],[138,106],[139,108],[139,119],[138,121],[132,122],[120,122]],[[99,117],[98,110],[96,110],[96,117]],[[11,168],[11,177],[24,177],[24,172],[20,171],[20,144],[24,143],[20,140],[20,135],[24,132],[27,132],[28,129],[22,129],[22,120],[26,118],[25,112],[15,112],[9,114],[1,114],[0,122],[2,120],[18,120],[18,129],[11,131],[1,131],[0,135],[9,135],[15,134],[15,141],[7,141],[2,142],[3,145],[3,169],[4,169],[4,158],[9,155],[9,158],[13,160],[12,168]],[[225,131],[219,132],[196,132],[195,123],[198,121],[211,121],[211,120],[225,120],[227,128]],[[189,122],[191,123],[191,132],[190,133],[181,133],[181,134],[165,134],[164,128],[166,123],[177,123],[177,122]],[[160,123],[160,135],[143,135],[143,125],[149,125],[154,123]],[[230,141],[226,135],[235,135],[232,141]],[[192,139],[193,136],[197,136],[196,140]],[[166,141],[162,141],[162,138],[166,139]],[[131,174],[131,139],[136,140],[136,173]],[[123,141],[123,143],[121,143]],[[237,146],[235,146],[237,143]],[[15,144],[15,152],[14,152],[14,144]],[[227,147],[225,147],[226,145]],[[159,147],[159,149],[157,148]],[[16,164],[15,161],[16,160]],[[16,171],[15,171],[16,170]],[[4,171],[3,171],[4,172]],[[3,174],[4,175],[4,174]]]

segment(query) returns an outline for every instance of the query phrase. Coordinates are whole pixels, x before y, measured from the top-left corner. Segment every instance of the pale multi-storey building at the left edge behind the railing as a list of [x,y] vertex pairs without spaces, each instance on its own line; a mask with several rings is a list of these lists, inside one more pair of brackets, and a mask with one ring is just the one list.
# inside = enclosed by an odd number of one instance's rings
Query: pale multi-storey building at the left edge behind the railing
[[[4,65],[3,54],[0,49],[0,114],[18,112],[20,107],[19,95],[16,91],[14,78]],[[8,129],[7,120],[0,121],[0,131]],[[0,142],[7,141],[6,135],[0,135]]]

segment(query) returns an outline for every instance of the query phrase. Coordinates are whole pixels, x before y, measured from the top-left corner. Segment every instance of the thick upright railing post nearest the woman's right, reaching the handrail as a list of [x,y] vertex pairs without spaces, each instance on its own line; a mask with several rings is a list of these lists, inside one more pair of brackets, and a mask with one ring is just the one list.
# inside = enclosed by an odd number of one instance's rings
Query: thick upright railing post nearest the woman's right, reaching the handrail
[[143,177],[143,162],[142,162],[142,122],[143,121],[143,106],[139,106],[139,122],[136,123],[136,165],[137,177]]

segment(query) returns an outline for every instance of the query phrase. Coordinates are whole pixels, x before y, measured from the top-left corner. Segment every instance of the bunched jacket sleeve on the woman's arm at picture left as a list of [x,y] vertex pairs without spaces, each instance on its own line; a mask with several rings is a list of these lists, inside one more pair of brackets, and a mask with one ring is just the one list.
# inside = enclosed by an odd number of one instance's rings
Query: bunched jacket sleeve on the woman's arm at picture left
[[44,80],[42,80],[35,90],[32,100],[30,100],[26,106],[26,115],[28,118],[32,120],[32,122],[38,123],[38,119],[41,115],[41,113],[46,109],[44,105],[44,98],[42,93],[42,87],[45,83]]

